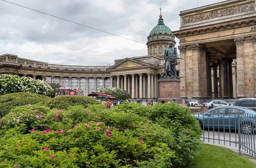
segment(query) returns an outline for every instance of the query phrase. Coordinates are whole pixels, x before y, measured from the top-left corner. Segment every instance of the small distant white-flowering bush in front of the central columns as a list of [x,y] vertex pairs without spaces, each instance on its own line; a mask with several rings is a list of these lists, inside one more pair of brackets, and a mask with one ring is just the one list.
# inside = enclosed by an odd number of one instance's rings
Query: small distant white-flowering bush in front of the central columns
[[108,89],[106,88],[100,88],[99,92],[105,93],[107,95],[112,95],[116,99],[122,98],[131,98],[131,94],[126,92],[125,90],[119,89],[117,87],[109,87]]

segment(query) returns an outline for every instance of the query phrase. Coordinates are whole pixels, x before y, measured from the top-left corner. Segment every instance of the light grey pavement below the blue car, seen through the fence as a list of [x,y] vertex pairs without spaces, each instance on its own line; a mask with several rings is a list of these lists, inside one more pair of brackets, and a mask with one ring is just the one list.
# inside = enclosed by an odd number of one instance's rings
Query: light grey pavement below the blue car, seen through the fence
[[[241,144],[243,144],[241,145],[241,153],[254,155],[252,151],[256,151],[256,133],[254,135],[240,134],[240,136]],[[239,134],[237,131],[229,132],[229,130],[220,130],[218,133],[218,129],[210,129],[209,132],[208,129],[205,129],[201,140],[204,141],[204,143],[239,151]]]

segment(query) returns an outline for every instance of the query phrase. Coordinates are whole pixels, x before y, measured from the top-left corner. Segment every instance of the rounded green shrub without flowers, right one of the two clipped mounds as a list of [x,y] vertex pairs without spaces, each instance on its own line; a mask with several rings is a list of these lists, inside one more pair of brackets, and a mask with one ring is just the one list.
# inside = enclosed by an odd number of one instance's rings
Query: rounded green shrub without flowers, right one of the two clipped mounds
[[87,107],[88,104],[99,104],[93,98],[81,95],[61,95],[55,98],[52,98],[51,101],[48,102],[47,106],[51,109],[68,109],[69,106],[81,105]]

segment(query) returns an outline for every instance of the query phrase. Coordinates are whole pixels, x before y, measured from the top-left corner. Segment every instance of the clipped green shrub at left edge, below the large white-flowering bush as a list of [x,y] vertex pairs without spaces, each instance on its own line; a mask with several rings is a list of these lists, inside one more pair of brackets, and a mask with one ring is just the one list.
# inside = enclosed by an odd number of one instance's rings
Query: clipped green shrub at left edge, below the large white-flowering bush
[[23,106],[28,104],[42,103],[46,104],[52,98],[35,93],[11,93],[0,96],[0,115],[3,117],[16,106]]

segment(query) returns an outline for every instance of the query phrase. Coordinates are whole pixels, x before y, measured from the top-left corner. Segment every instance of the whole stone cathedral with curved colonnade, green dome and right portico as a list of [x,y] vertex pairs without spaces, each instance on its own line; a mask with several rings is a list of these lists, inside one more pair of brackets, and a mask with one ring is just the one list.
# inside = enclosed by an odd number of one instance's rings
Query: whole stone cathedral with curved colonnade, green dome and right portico
[[[119,87],[132,98],[159,98],[164,76],[164,51],[180,40],[176,72],[184,99],[256,96],[256,0],[227,0],[180,12],[180,30],[171,31],[162,15],[148,35],[148,55],[114,60],[113,66],[50,64],[0,55],[0,73],[30,76],[84,95],[99,88]],[[168,17],[168,16],[167,16]],[[178,90],[182,92],[181,88]]]

